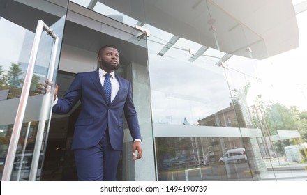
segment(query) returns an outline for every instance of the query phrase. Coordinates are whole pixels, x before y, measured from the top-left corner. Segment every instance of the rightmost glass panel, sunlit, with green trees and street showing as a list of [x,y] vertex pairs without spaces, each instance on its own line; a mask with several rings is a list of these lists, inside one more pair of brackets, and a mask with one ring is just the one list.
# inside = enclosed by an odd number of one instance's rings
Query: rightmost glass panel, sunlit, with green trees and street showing
[[232,100],[239,107],[236,110],[238,121],[241,121],[239,125],[261,131],[260,136],[250,132],[250,140],[244,139],[247,141],[244,142],[246,147],[249,146],[253,152],[249,156],[247,150],[248,159],[253,159],[249,163],[255,169],[251,173],[258,180],[297,180],[306,177],[303,168],[306,138],[304,127],[301,128],[304,124],[304,104],[283,100],[289,91],[297,91],[297,84],[288,83],[291,86],[288,90],[287,85],[281,82],[273,84],[276,78],[268,78],[266,73],[272,64],[265,61],[232,56],[226,64]]

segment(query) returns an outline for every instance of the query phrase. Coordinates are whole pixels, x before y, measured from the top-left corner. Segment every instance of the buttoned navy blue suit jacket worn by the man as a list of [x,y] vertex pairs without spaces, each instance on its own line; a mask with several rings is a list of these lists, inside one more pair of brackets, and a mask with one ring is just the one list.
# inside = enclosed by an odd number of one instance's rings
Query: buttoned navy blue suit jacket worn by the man
[[106,102],[99,72],[96,70],[78,73],[66,95],[54,105],[54,113],[66,114],[78,100],[81,101],[82,109],[75,123],[72,149],[96,146],[108,126],[112,148],[122,150],[123,114],[133,140],[142,139],[130,81],[117,75],[115,77],[119,81],[119,91],[111,104]]

